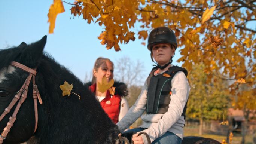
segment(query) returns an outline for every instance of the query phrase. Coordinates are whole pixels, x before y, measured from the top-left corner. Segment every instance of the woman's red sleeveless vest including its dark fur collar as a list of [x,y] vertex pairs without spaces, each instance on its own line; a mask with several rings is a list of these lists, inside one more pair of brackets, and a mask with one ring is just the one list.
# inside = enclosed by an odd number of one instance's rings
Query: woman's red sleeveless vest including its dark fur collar
[[[115,87],[115,94],[112,95],[109,90],[107,90],[106,97],[100,102],[100,105],[109,118],[112,119],[113,123],[117,123],[120,113],[121,97],[127,96],[128,90],[127,86],[121,82],[115,82],[113,87]],[[91,92],[95,93],[96,83],[93,85],[89,84],[89,89]]]

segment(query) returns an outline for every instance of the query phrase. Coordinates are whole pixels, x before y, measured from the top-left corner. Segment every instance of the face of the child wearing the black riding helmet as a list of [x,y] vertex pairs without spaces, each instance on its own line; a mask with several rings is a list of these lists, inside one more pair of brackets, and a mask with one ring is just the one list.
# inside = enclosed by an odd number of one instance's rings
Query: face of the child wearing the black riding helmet
[[159,43],[152,47],[153,58],[159,65],[165,65],[170,62],[173,53],[173,49],[168,43]]

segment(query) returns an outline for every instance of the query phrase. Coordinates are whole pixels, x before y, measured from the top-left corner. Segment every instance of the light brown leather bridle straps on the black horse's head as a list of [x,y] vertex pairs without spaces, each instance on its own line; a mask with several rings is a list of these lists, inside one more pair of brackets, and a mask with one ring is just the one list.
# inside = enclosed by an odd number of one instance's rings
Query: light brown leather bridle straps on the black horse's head
[[7,137],[8,132],[10,132],[10,129],[12,128],[13,123],[16,120],[16,115],[19,111],[19,108],[21,107],[21,105],[25,101],[25,99],[27,98],[28,86],[30,84],[31,79],[32,79],[32,82],[33,82],[33,99],[34,99],[34,110],[35,110],[35,129],[34,129],[34,133],[36,132],[37,122],[38,122],[37,99],[38,99],[40,104],[43,104],[43,101],[41,99],[41,96],[39,94],[39,91],[37,89],[37,85],[36,85],[36,82],[35,82],[36,68],[31,69],[31,68],[29,68],[29,67],[27,67],[23,64],[20,64],[19,62],[15,62],[15,61],[12,61],[10,65],[12,65],[14,67],[17,67],[17,68],[20,68],[24,71],[27,71],[29,73],[29,75],[28,75],[27,79],[25,80],[24,84],[22,85],[21,89],[19,89],[19,91],[16,93],[16,95],[14,96],[14,98],[12,99],[12,101],[10,102],[8,107],[5,108],[4,112],[0,116],[0,122],[1,122],[1,120],[4,118],[4,116],[6,116],[6,114],[10,112],[10,110],[16,104],[16,102],[19,101],[18,104],[16,105],[16,108],[15,108],[12,116],[10,116],[10,118],[9,118],[9,122],[7,122],[6,127],[4,128],[3,132],[0,135],[0,144],[3,143],[3,140]]

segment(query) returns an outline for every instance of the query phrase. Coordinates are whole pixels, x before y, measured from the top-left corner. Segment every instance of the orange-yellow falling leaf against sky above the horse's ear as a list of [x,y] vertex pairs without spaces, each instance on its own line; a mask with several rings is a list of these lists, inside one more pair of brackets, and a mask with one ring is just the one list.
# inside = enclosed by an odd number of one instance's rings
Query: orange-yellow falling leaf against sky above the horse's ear
[[49,34],[53,33],[55,28],[55,20],[59,13],[65,12],[63,3],[61,0],[54,0],[54,3],[50,6],[48,13],[48,22],[50,22],[49,26]]

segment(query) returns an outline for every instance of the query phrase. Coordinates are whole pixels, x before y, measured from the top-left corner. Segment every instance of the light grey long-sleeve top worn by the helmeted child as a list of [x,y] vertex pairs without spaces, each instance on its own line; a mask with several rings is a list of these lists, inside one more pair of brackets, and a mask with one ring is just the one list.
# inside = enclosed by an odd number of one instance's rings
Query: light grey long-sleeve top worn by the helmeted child
[[[185,119],[182,115],[189,95],[189,83],[185,74],[181,71],[177,72],[171,80],[171,101],[168,111],[164,114],[144,114],[147,103],[147,82],[141,90],[137,101],[129,109],[127,114],[117,123],[121,132],[128,128],[135,120],[141,115],[143,123],[140,127],[147,128],[143,132],[146,132],[151,142],[156,138],[161,137],[165,132],[170,131],[183,138],[183,127],[185,125]],[[147,139],[142,135],[144,144],[147,144]]]

